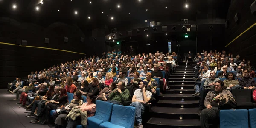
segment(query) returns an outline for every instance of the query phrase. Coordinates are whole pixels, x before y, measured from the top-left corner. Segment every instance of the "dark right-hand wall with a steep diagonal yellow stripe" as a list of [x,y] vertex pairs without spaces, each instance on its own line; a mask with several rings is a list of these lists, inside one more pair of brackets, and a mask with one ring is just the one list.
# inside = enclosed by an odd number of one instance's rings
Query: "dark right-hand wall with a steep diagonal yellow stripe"
[[[243,33],[247,28],[256,21],[255,14],[251,14],[250,5],[255,0],[231,0],[227,14],[229,26],[226,29],[226,43],[230,43],[233,39]],[[238,22],[235,22],[234,16],[238,13]],[[250,59],[252,64],[256,64],[256,26],[250,28],[238,39],[226,47],[226,50],[234,55],[240,55],[246,60]]]

